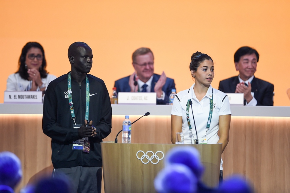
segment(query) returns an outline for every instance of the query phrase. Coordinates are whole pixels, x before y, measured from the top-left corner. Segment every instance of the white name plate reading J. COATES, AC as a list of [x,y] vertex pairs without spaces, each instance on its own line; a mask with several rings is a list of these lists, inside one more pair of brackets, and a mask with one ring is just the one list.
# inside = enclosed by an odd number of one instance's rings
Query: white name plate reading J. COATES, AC
[[119,92],[118,104],[156,104],[156,92]]

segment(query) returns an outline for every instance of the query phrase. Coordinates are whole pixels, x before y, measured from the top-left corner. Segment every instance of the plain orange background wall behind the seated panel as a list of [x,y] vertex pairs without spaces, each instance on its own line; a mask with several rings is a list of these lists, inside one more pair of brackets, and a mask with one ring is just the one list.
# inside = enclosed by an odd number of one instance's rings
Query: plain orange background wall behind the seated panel
[[215,63],[212,83],[235,76],[234,52],[241,46],[258,50],[255,76],[274,84],[274,105],[290,106],[290,1],[10,1],[0,0],[0,103],[6,80],[17,71],[21,49],[38,41],[45,50],[47,70],[67,73],[67,50],[83,41],[93,50],[90,74],[111,92],[114,81],[133,73],[131,54],[150,47],[155,72],[174,78],[177,92],[189,88],[190,56],[207,53]]

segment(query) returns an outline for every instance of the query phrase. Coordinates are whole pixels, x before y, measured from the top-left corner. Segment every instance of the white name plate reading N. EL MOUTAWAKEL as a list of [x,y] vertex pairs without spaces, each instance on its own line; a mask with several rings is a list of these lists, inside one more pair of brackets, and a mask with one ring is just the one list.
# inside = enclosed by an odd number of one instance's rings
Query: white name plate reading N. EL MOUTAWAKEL
[[5,91],[4,103],[42,103],[42,91]]

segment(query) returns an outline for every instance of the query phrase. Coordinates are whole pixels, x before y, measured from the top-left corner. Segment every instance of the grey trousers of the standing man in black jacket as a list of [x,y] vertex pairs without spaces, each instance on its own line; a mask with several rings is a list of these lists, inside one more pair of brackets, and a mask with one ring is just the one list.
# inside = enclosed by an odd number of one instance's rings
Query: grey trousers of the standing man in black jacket
[[53,169],[53,177],[68,176],[73,192],[101,193],[102,167],[69,167]]

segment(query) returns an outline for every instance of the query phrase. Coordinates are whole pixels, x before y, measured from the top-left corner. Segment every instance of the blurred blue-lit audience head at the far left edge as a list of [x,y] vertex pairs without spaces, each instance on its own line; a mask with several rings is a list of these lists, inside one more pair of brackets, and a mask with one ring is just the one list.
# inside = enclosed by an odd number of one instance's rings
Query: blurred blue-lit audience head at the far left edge
[[20,159],[14,153],[0,152],[0,185],[14,189],[21,178]]

